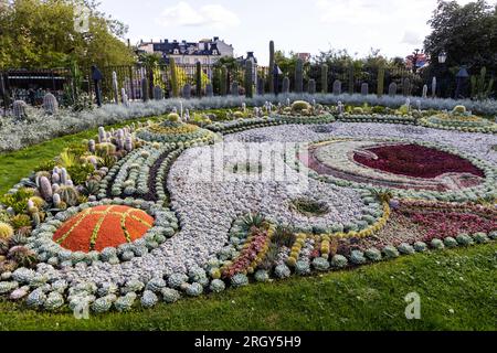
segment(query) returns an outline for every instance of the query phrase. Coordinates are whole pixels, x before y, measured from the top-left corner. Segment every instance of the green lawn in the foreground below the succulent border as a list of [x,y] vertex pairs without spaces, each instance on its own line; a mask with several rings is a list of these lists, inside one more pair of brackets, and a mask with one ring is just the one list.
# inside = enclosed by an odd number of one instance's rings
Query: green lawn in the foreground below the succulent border
[[[495,243],[350,271],[255,284],[151,310],[76,320],[0,302],[0,330],[495,330]],[[421,297],[406,320],[405,295]]]

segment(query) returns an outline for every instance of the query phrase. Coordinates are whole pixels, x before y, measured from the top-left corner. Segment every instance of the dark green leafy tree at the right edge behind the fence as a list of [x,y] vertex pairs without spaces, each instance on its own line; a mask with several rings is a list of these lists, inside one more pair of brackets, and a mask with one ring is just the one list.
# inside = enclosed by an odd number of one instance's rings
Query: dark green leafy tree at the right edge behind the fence
[[[429,21],[432,33],[424,41],[430,55],[430,75],[444,79],[453,89],[454,75],[466,65],[473,75],[487,68],[488,76],[497,75],[497,4],[485,0],[459,6],[456,1],[441,1]],[[447,53],[444,65],[437,63],[441,52]]]

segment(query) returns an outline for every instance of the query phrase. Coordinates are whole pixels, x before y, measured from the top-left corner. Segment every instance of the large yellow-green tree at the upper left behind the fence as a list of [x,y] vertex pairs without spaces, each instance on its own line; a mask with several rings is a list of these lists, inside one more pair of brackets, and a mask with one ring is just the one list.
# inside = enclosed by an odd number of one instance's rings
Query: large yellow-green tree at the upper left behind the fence
[[[87,6],[89,31],[74,25],[75,8]],[[14,0],[0,2],[0,67],[81,67],[129,64],[123,42],[127,28],[97,10],[94,1]]]

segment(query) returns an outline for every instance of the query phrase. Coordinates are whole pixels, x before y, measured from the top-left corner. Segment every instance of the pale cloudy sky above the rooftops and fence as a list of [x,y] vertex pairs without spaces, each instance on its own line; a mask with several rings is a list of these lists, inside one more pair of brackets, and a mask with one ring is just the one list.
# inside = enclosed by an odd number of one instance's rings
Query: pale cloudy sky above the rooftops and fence
[[347,49],[363,56],[377,49],[405,57],[422,49],[435,7],[436,0],[101,0],[99,9],[129,26],[131,43],[219,36],[235,55],[253,51],[267,65],[271,40],[286,53]]

